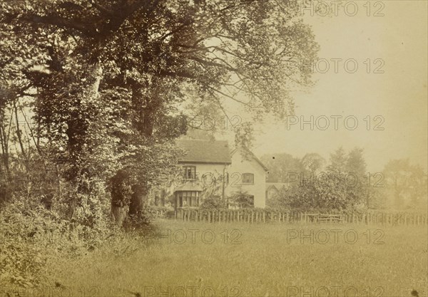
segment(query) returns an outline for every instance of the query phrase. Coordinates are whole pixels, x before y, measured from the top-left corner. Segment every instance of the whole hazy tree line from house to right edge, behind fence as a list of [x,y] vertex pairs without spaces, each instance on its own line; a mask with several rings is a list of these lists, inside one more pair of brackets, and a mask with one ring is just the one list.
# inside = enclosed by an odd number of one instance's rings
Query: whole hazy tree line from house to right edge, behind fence
[[270,207],[306,209],[426,209],[427,174],[409,160],[390,160],[382,172],[367,172],[361,148],[340,147],[330,162],[316,153],[304,157],[264,155],[267,182],[283,183]]

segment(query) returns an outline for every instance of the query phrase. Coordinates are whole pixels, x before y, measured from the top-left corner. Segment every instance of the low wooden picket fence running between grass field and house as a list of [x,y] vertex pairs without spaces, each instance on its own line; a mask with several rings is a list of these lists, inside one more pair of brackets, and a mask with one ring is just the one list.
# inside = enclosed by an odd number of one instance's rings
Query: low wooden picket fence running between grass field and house
[[198,209],[178,209],[175,219],[193,222],[243,222],[243,223],[352,223],[397,225],[427,225],[427,214],[410,212],[367,212],[365,214],[321,214],[297,211],[270,211],[229,209],[206,211]]

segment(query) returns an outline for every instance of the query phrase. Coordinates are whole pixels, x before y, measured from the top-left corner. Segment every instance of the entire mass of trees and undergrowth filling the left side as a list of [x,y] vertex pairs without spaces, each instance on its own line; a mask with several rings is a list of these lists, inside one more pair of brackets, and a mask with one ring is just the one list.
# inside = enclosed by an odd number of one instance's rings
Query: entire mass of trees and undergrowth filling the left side
[[[41,283],[43,254],[103,242],[112,213],[145,229],[156,209],[143,202],[176,172],[174,140],[193,115],[242,105],[282,119],[290,87],[312,85],[287,63],[317,50],[298,6],[276,1],[2,3],[2,281]],[[242,124],[236,139],[248,142]]]

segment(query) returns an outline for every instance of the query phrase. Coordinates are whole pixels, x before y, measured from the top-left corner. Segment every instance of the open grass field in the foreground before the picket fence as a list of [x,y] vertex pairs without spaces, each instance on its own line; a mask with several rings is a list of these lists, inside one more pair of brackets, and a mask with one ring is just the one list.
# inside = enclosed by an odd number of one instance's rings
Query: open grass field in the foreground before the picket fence
[[156,232],[46,273],[62,296],[427,296],[422,226],[160,220]]

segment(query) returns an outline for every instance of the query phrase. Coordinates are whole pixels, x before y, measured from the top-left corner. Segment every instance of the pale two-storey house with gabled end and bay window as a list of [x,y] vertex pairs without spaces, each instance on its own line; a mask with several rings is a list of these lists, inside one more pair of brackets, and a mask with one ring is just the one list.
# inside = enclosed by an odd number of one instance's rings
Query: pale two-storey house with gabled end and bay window
[[253,207],[265,207],[267,168],[250,150],[231,150],[223,140],[177,140],[177,145],[186,152],[178,162],[183,179],[174,180],[166,190],[173,195],[175,209],[199,207],[211,195],[227,201],[238,193],[252,199]]

